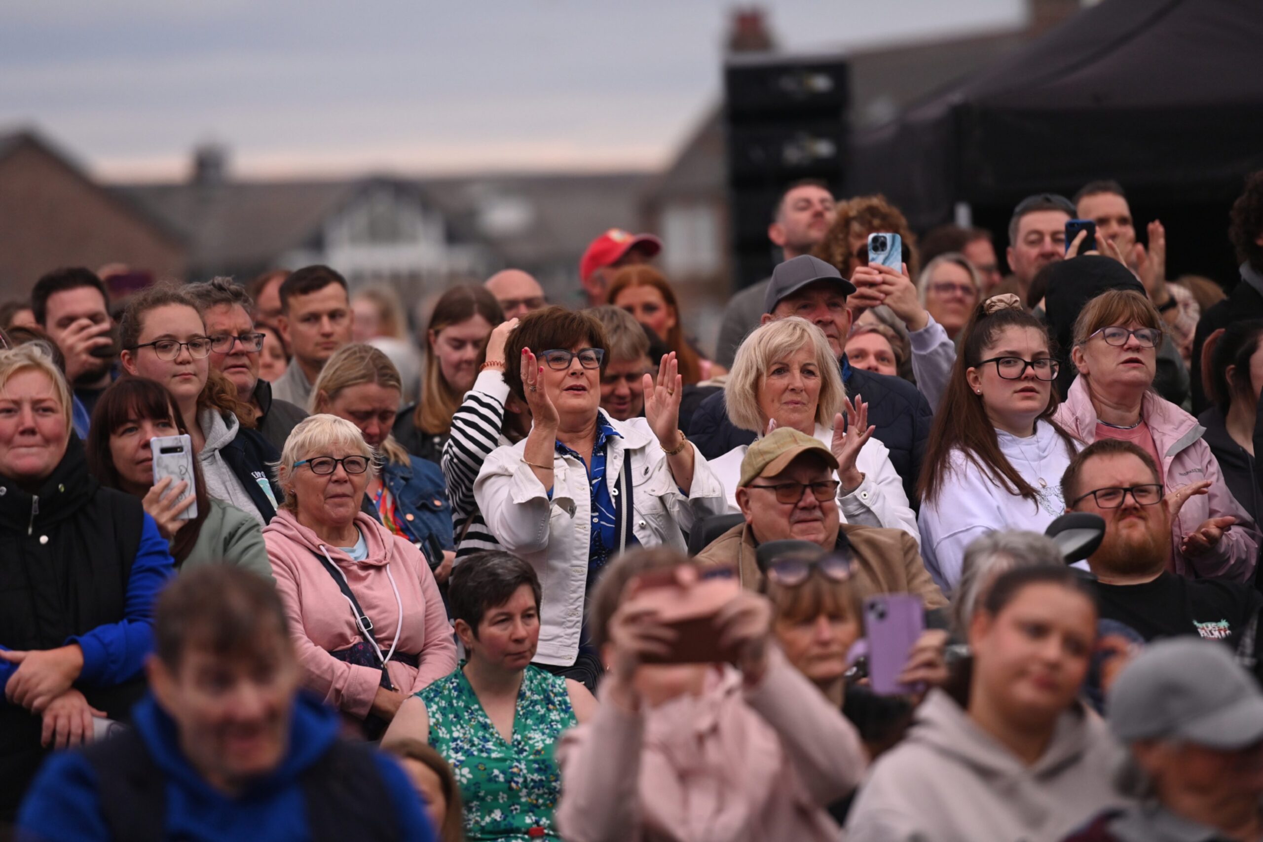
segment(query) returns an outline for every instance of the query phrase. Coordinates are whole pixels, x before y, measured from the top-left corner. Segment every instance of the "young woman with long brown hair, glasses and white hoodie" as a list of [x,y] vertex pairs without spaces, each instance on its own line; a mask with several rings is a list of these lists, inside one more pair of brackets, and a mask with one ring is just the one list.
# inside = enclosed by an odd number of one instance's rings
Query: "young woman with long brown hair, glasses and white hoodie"
[[1061,475],[1077,444],[1052,418],[1057,369],[1043,323],[1017,295],[974,311],[921,475],[921,554],[943,592],[979,535],[1042,533],[1065,513]]

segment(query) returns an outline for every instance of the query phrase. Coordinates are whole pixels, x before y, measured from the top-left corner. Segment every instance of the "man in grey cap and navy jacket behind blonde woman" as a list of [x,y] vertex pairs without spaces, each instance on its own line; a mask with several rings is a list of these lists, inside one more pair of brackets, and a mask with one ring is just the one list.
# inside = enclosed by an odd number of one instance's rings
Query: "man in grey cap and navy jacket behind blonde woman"
[[[846,394],[853,398],[859,395],[868,403],[869,423],[877,427],[874,437],[890,451],[890,463],[903,480],[904,492],[908,500],[916,501],[921,460],[930,438],[930,404],[907,380],[860,371],[846,361],[846,336],[851,329],[846,297],[854,292],[855,285],[832,265],[811,255],[799,255],[773,270],[763,302],[763,323],[799,316],[823,331],[829,347],[839,357]],[[741,444],[751,443],[755,434],[733,424],[724,394],[719,393],[697,406],[688,439],[707,458],[719,458]]]

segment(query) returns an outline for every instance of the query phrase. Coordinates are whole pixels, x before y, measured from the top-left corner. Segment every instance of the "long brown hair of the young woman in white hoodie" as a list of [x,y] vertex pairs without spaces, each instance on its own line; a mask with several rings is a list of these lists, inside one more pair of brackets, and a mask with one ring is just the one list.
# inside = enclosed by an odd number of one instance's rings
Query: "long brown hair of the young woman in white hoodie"
[[[921,470],[918,487],[921,499],[927,502],[933,502],[938,497],[938,492],[942,491],[947,471],[951,467],[951,452],[955,449],[961,451],[966,460],[989,475],[1009,494],[1031,501],[1037,501],[1039,497],[1034,487],[1022,478],[1022,475],[1000,451],[995,427],[986,417],[983,398],[974,394],[965,377],[965,372],[978,366],[979,361],[983,360],[983,351],[995,342],[1002,331],[1010,327],[1039,331],[1039,335],[1050,343],[1050,352],[1052,351],[1048,328],[1034,316],[1017,308],[997,309],[989,316],[986,302],[979,302],[969,324],[965,326],[964,340],[961,340],[960,353],[956,355],[956,365],[951,370],[947,391],[935,412],[935,423],[930,429],[930,444],[926,448],[926,461]],[[1074,456],[1074,437],[1052,419],[1058,403],[1057,390],[1052,389],[1050,384],[1048,405],[1039,413],[1038,420],[1051,424],[1065,441],[1066,449]]]

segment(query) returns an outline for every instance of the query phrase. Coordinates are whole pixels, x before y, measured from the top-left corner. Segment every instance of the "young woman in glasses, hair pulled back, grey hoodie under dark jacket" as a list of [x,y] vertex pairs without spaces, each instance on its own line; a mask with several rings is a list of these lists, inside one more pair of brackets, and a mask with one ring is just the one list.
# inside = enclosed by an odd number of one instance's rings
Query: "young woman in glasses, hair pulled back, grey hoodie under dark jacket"
[[277,511],[269,462],[277,449],[254,429],[254,409],[207,357],[212,340],[193,300],[172,285],[150,287],[128,303],[119,323],[128,374],[164,386],[201,462],[206,492],[265,525]]

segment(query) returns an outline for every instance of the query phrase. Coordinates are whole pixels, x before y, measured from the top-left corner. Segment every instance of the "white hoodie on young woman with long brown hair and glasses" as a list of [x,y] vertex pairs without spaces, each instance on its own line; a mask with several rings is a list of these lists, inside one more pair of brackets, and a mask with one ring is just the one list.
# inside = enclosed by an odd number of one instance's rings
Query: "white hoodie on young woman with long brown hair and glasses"
[[964,451],[952,451],[938,497],[933,502],[922,501],[917,518],[921,557],[945,595],[951,595],[960,581],[965,548],[975,538],[1000,529],[1042,533],[1066,513],[1061,475],[1070,467],[1074,453],[1057,430],[1046,422],[1036,422],[1034,436],[1018,438],[995,430],[995,437],[1013,470],[1039,492],[1039,501],[1009,494]]

